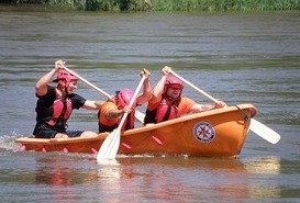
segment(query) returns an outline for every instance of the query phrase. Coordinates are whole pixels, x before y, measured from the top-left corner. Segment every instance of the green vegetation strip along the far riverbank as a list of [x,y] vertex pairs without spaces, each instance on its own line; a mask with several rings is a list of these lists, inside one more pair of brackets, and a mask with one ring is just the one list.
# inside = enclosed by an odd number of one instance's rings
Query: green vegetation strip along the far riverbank
[[300,0],[0,0],[1,4],[43,5],[85,11],[291,11]]

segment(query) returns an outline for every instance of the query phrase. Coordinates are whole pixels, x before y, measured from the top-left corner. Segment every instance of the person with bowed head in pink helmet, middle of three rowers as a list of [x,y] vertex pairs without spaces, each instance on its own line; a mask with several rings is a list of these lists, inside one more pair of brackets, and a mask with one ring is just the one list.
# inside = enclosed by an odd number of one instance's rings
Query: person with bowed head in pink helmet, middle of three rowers
[[146,78],[143,83],[143,94],[137,97],[136,101],[132,105],[132,109],[129,108],[129,104],[134,92],[126,88],[122,89],[121,91],[116,91],[115,95],[102,105],[98,113],[99,133],[112,132],[114,128],[116,128],[123,114],[126,112],[129,115],[124,122],[124,125],[122,126],[122,131],[134,128],[135,108],[147,102],[152,97],[152,89],[149,84],[151,72],[144,69],[141,72],[141,76],[143,75]]

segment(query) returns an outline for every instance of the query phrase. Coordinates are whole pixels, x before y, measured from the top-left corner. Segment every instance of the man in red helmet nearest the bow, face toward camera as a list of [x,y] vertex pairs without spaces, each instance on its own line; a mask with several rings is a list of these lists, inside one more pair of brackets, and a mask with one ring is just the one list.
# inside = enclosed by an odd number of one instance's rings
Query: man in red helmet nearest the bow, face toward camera
[[184,83],[176,77],[168,77],[170,67],[162,69],[163,77],[153,89],[153,95],[148,101],[144,124],[159,123],[188,113],[198,113],[226,104],[222,101],[215,105],[199,104],[189,98],[181,97]]

